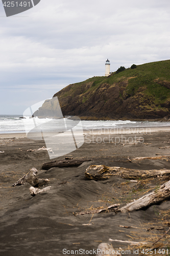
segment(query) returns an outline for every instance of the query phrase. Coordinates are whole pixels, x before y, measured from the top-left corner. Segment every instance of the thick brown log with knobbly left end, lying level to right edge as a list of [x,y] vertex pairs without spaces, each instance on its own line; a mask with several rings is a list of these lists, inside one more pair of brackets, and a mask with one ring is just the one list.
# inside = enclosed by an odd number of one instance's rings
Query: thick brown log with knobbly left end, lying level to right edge
[[86,178],[91,180],[109,179],[111,176],[120,176],[124,179],[146,179],[157,177],[158,175],[170,175],[170,170],[139,170],[117,166],[90,165],[85,172]]

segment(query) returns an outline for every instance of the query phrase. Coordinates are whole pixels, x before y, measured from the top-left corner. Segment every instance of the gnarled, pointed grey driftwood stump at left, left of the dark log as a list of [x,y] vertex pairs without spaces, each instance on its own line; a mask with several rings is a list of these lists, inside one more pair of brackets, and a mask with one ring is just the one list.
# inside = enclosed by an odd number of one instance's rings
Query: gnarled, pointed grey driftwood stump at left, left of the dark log
[[20,178],[13,186],[23,185],[25,182],[29,183],[32,186],[42,186],[48,182],[48,179],[39,179],[36,175],[38,170],[36,168],[32,168],[28,174]]

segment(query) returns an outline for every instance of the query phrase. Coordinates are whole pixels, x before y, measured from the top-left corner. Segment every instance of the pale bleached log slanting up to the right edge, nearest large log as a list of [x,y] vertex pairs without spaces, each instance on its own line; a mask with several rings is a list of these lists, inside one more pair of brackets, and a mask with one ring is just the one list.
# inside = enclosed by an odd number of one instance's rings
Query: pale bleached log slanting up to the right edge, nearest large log
[[170,181],[167,181],[157,190],[120,208],[120,211],[127,212],[127,211],[132,211],[132,210],[139,210],[141,208],[150,206],[152,204],[157,204],[161,201],[164,201],[164,200],[168,199],[169,197],[170,197]]

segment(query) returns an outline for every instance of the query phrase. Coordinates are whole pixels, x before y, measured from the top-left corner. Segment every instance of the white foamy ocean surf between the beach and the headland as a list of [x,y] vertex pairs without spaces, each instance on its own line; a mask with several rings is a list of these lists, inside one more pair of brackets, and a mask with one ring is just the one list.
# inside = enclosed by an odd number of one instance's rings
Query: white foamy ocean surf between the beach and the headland
[[[22,115],[0,115],[0,134],[6,133],[25,133],[26,130],[32,129],[32,118],[20,119]],[[37,125],[42,125],[43,123],[52,122],[54,119],[39,119],[35,118]],[[56,119],[55,119],[56,120]],[[60,127],[62,130],[62,125],[60,124],[61,119],[57,119],[55,125]],[[75,130],[101,130],[101,129],[119,129],[119,128],[139,128],[139,127],[162,127],[162,126],[170,126],[169,122],[156,122],[156,121],[87,121],[82,120],[79,123]]]

